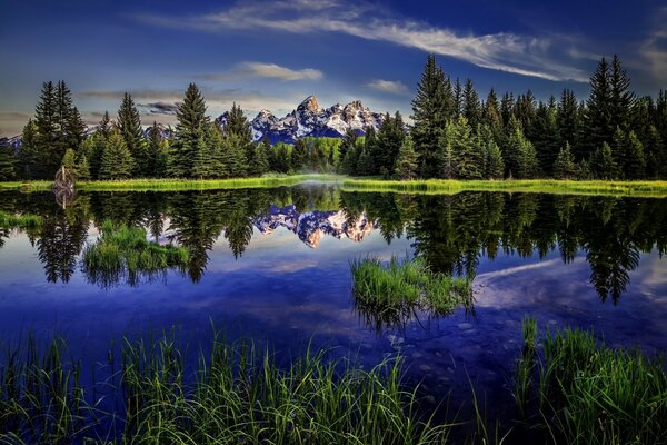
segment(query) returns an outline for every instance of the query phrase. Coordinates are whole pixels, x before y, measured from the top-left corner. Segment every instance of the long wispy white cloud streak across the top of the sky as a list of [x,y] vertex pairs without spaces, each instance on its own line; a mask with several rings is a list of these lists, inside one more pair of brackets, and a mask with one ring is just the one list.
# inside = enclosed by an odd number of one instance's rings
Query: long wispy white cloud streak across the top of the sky
[[387,41],[478,67],[548,80],[588,81],[588,76],[560,62],[570,58],[558,42],[546,37],[511,32],[458,34],[427,22],[378,14],[367,3],[345,6],[339,0],[237,3],[218,13],[172,18],[143,14],[143,22],[207,32],[267,29],[299,34],[338,32],[365,40]]

